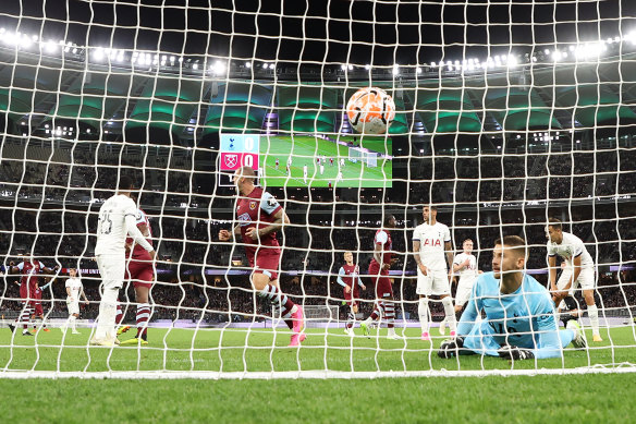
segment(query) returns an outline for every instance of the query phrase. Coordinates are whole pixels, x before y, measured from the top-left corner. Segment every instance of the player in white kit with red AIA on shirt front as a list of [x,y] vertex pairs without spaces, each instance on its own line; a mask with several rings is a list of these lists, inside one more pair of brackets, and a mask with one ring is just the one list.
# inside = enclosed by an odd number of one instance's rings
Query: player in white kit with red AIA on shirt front
[[[417,263],[417,289],[419,294],[417,313],[421,326],[421,340],[430,340],[428,329],[428,298],[439,295],[444,306],[445,320],[455,335],[456,320],[448,264],[453,263],[453,247],[449,227],[437,221],[437,207],[425,206],[424,222],[413,231],[413,254]],[[445,257],[444,257],[445,253]]]

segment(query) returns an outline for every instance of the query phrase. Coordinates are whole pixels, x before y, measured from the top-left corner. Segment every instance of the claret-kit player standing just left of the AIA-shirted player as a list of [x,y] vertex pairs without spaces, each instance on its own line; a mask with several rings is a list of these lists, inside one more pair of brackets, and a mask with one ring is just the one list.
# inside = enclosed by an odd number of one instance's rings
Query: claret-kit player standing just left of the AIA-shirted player
[[389,268],[397,259],[392,258],[393,243],[391,242],[390,229],[395,228],[395,217],[389,215],[384,219],[384,225],[376,232],[374,238],[374,258],[369,264],[369,276],[376,283],[376,307],[371,315],[360,323],[360,328],[365,336],[369,336],[369,325],[374,320],[379,320],[380,316],[387,319],[389,327],[388,339],[400,339],[395,334],[395,302],[393,301],[393,284],[389,278]]

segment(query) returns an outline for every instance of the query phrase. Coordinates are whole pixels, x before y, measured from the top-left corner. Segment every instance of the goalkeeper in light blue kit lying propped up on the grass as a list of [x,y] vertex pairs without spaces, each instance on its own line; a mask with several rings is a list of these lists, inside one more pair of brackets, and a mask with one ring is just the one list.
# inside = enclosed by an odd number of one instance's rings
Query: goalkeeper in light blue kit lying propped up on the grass
[[[550,293],[524,271],[525,266],[524,239],[506,235],[494,242],[492,272],[475,282],[457,337],[441,344],[440,358],[475,353],[507,360],[560,358],[571,342],[586,347],[575,322],[558,329]],[[481,312],[486,318],[476,323]]]

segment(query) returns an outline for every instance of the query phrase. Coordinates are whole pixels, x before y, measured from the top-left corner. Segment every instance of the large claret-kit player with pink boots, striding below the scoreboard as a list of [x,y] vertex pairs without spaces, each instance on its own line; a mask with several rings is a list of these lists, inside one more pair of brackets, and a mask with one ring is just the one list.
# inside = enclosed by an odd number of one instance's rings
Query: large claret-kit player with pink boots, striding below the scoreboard
[[259,296],[280,306],[281,317],[293,331],[290,346],[305,340],[303,308],[290,300],[279,288],[278,269],[281,250],[276,232],[290,218],[277,199],[261,187],[254,185],[256,173],[250,167],[242,167],[234,173],[238,191],[236,221],[232,231],[219,231],[219,240],[232,239],[245,245],[249,266],[254,268],[250,280]]

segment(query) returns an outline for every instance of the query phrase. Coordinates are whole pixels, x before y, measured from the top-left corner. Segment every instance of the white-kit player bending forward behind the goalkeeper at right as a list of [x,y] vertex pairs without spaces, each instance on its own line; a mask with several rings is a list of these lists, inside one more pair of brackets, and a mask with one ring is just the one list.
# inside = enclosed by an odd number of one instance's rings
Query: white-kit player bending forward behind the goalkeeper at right
[[[550,267],[550,291],[556,306],[561,302],[570,310],[576,310],[574,292],[579,287],[587,304],[587,314],[591,323],[594,341],[602,341],[599,331],[599,312],[594,299],[596,286],[594,261],[583,241],[574,234],[563,231],[561,221],[556,218],[548,220],[546,229],[548,238],[548,266]],[[565,268],[556,281],[556,256],[565,261]]]

